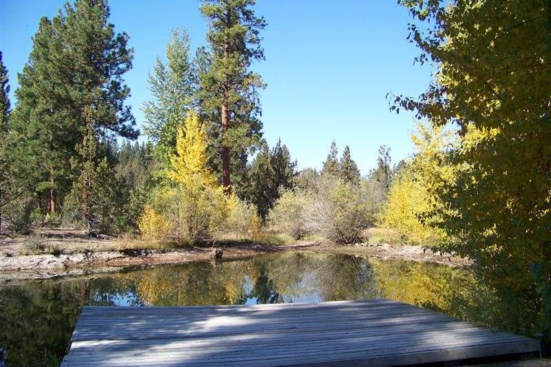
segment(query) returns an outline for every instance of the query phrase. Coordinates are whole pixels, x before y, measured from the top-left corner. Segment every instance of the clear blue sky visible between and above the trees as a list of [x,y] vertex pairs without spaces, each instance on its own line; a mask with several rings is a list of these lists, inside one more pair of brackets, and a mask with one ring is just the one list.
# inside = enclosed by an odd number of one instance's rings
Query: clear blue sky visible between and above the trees
[[[64,1],[0,0],[0,50],[13,92],[42,16],[52,17]],[[192,48],[205,44],[207,25],[197,0],[111,0],[111,22],[134,48],[134,67],[125,76],[138,125],[149,99],[147,73],[163,56],[172,28],[186,28]],[[387,92],[419,95],[430,81],[428,66],[413,65],[419,54],[406,41],[410,21],[395,0],[259,0],[256,14],[266,61],[253,65],[262,91],[264,137],[286,144],[299,167],[318,167],[335,140],[351,147],[362,174],[375,166],[380,145],[394,162],[412,152],[410,113],[388,111]]]

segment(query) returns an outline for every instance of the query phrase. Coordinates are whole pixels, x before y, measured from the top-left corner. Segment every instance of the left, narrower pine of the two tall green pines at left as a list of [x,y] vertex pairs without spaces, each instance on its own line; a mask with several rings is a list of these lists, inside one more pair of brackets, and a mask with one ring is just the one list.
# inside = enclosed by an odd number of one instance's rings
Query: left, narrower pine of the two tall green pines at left
[[[69,151],[78,143],[80,134],[67,123],[71,118],[61,113],[69,93],[55,76],[54,56],[61,46],[51,21],[41,19],[33,41],[29,61],[19,74],[19,88],[15,91],[18,104],[10,128],[18,139],[13,146],[16,164],[33,167],[31,185],[48,198],[46,205],[40,201],[39,205],[53,212],[56,189],[67,184],[61,180],[69,176]],[[19,149],[22,146],[25,149]]]

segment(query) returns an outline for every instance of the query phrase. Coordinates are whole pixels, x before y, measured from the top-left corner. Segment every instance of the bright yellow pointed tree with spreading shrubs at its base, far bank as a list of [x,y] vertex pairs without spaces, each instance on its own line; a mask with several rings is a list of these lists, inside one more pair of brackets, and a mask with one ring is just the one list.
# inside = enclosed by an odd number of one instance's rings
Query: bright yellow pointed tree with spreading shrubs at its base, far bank
[[145,238],[201,243],[229,232],[258,231],[256,213],[234,194],[225,194],[207,160],[205,126],[196,113],[187,112],[178,129],[176,154],[171,154],[165,170],[169,185],[154,192],[139,220]]

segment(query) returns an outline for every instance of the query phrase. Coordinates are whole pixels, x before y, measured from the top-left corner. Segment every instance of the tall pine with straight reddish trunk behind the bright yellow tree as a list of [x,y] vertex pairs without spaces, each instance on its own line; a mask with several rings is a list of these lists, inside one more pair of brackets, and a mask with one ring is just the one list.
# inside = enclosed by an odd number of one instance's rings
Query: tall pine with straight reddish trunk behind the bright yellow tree
[[247,154],[260,145],[262,134],[258,89],[264,83],[249,67],[264,59],[259,31],[266,22],[251,10],[255,2],[205,0],[200,7],[209,21],[209,50],[202,50],[200,62],[200,101],[209,122],[210,162],[221,172],[227,191],[231,177],[244,176]]

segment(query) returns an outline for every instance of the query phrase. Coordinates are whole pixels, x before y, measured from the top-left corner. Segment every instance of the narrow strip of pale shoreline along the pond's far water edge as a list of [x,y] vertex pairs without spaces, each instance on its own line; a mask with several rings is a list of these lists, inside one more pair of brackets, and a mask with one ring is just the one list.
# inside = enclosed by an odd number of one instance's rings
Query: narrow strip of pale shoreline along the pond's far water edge
[[[439,255],[422,247],[395,246],[391,244],[337,245],[323,242],[298,242],[296,244],[228,243],[218,245],[222,260],[238,260],[255,255],[282,251],[308,251],[316,253],[340,253],[382,260],[408,260],[428,262],[451,267],[468,267],[470,260]],[[14,284],[23,280],[44,280],[54,277],[78,276],[95,273],[111,273],[133,266],[161,264],[185,264],[199,261],[216,261],[214,247],[187,247],[185,249],[122,249],[101,250],[59,255],[0,255],[0,284]]]

